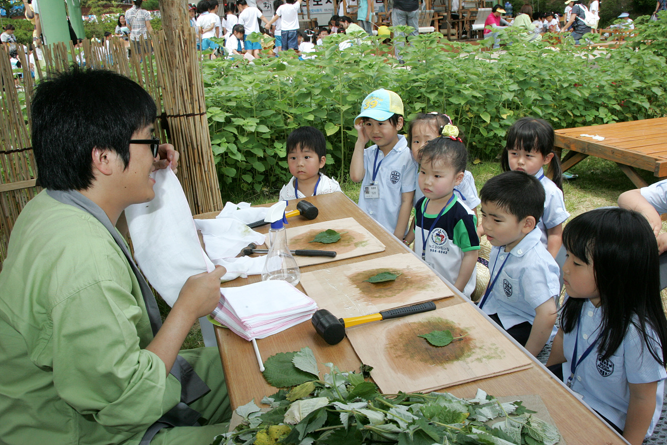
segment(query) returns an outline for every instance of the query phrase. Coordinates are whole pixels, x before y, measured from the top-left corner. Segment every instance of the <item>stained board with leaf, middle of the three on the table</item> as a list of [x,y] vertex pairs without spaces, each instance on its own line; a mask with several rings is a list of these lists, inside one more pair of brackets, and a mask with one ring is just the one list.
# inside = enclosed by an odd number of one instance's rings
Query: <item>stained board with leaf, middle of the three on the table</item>
[[[395,281],[365,282],[381,272],[400,274]],[[301,274],[305,293],[339,318],[454,296],[440,278],[414,255],[397,254]]]

